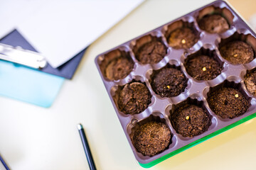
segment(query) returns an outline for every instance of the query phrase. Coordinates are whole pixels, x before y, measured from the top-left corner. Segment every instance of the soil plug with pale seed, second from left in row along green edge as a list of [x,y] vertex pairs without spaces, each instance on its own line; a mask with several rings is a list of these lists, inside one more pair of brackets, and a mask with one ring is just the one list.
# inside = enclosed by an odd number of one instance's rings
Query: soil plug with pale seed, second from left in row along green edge
[[186,105],[171,114],[171,124],[183,137],[193,137],[208,130],[210,115],[203,108]]

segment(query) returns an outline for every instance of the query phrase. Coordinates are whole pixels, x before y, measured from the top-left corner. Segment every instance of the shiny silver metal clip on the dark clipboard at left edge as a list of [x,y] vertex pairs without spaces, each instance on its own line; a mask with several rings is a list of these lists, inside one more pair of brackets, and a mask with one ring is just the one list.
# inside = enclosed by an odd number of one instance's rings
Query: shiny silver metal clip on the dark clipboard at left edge
[[13,47],[2,43],[0,43],[0,59],[36,69],[46,67],[47,63],[45,57],[38,52],[24,50],[21,47]]

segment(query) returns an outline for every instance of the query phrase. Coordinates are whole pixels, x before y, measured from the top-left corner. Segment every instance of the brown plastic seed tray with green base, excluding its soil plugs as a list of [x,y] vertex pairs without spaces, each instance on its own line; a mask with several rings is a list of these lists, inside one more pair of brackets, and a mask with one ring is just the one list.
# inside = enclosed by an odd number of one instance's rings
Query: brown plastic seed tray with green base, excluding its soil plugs
[[[198,20],[209,13],[219,13],[224,16],[228,21],[230,28],[220,34],[210,34],[201,30],[198,26]],[[175,50],[168,45],[166,37],[169,35],[171,30],[182,26],[189,26],[193,28],[198,36],[198,42],[189,49]],[[197,10],[181,16],[180,18],[176,18],[174,21],[164,24],[164,26],[160,26],[159,28],[151,30],[144,35],[114,47],[107,52],[103,52],[95,58],[97,69],[100,72],[102,81],[104,82],[107,93],[110,96],[114,110],[116,111],[124,133],[127,136],[129,145],[134,152],[134,156],[141,166],[144,168],[154,166],[155,164],[158,164],[159,162],[162,162],[165,159],[188,149],[189,147],[193,147],[198,143],[208,140],[210,137],[214,137],[221,132],[225,132],[226,130],[234,128],[247,120],[255,118],[256,97],[247,91],[244,83],[244,77],[247,72],[256,70],[256,60],[254,59],[252,62],[247,64],[231,64],[221,57],[219,52],[219,47],[230,40],[242,40],[247,42],[247,44],[251,45],[254,52],[256,52],[255,37],[255,33],[225,1],[214,1],[211,4],[198,8]],[[167,48],[167,54],[163,60],[156,64],[142,64],[134,56],[134,50],[151,40],[159,40],[163,42]],[[198,81],[193,79],[193,77],[186,72],[184,62],[188,57],[197,53],[207,54],[214,57],[215,60],[218,60],[223,67],[221,74],[215,79],[208,81]],[[107,64],[120,55],[127,55],[129,60],[134,62],[132,72],[130,72],[124,79],[107,79],[105,76],[105,68],[107,67]],[[161,96],[156,94],[151,88],[151,76],[154,73],[154,70],[166,67],[166,65],[180,69],[188,79],[185,91],[178,96],[171,98],[161,98]],[[128,115],[119,111],[117,99],[122,87],[132,81],[139,81],[146,84],[151,93],[151,103],[146,110],[142,111],[142,113]],[[223,119],[211,111],[207,103],[208,94],[223,86],[239,89],[245,96],[249,103],[249,108],[244,114],[233,119]],[[170,114],[174,111],[174,108],[178,108],[183,103],[201,106],[210,115],[211,125],[206,132],[195,137],[183,137],[174,130],[171,125]],[[151,120],[165,123],[171,130],[172,134],[169,147],[167,147],[164,152],[156,154],[153,157],[144,156],[137,152],[137,149],[134,148],[132,142],[134,130],[138,125],[142,125]]]

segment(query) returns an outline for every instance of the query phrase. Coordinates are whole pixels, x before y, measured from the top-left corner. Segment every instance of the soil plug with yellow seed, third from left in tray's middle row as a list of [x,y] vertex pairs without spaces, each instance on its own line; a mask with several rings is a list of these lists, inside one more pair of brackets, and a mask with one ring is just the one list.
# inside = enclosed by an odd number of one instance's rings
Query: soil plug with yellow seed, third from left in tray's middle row
[[211,80],[221,72],[220,63],[212,57],[198,55],[185,63],[186,71],[197,80]]

